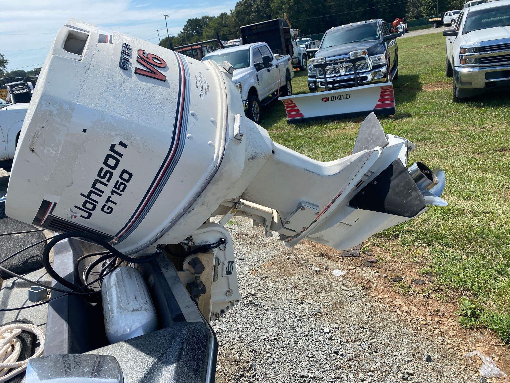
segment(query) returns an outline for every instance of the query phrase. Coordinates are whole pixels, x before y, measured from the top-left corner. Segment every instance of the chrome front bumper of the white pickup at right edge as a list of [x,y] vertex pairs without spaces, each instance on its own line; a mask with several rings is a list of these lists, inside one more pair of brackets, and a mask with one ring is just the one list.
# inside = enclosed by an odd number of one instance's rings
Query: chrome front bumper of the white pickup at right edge
[[[453,68],[453,79],[459,89],[479,89],[497,87],[500,81],[510,81],[510,65]],[[498,74],[497,72],[501,72]],[[506,73],[504,73],[506,72]]]

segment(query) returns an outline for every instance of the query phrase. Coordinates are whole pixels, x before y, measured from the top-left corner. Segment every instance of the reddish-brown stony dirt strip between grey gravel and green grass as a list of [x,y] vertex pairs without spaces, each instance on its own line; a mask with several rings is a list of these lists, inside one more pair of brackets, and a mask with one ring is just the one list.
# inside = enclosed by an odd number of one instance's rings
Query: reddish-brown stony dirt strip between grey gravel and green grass
[[[476,349],[492,356],[503,372],[510,372],[510,349],[490,330],[466,329],[458,324],[455,312],[460,295],[443,289],[432,275],[421,275],[419,270],[425,266],[424,260],[406,262],[373,246],[368,254],[362,251],[360,257],[343,257],[342,252],[324,245],[310,241],[301,244],[307,248],[310,258],[334,262],[336,265],[328,265],[330,270],[336,267],[347,271],[345,277],[360,285],[368,296],[388,305],[402,321],[422,331],[431,342],[453,352],[460,361],[464,354]],[[377,262],[368,266],[365,257],[376,257]],[[391,278],[402,280],[394,282]],[[473,363],[480,365],[477,359]]]

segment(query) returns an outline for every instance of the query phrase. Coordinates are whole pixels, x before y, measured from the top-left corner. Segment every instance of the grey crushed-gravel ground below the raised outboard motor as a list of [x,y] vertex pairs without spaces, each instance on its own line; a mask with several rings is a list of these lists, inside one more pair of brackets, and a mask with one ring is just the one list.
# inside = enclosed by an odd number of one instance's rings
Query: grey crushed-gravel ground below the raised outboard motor
[[242,299],[212,322],[218,382],[480,381],[475,365],[416,325],[421,318],[402,320],[369,297],[349,267],[334,277],[345,264],[314,256],[311,243],[287,249],[246,219],[227,228]]

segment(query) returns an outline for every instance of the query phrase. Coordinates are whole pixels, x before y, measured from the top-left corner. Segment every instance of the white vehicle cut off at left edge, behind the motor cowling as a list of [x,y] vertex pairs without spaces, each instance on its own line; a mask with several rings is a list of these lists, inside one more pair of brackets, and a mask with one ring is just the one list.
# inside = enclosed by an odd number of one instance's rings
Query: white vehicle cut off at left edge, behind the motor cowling
[[19,132],[28,107],[28,103],[11,104],[0,99],[0,167],[7,172],[11,171]]

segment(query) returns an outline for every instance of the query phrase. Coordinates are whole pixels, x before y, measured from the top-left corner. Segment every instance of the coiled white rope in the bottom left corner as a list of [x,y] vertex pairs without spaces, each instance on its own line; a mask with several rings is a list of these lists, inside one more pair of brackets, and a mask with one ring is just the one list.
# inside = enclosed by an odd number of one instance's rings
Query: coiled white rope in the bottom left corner
[[[29,331],[39,338],[39,349],[30,358],[18,362],[21,344],[16,337],[21,331]],[[0,383],[4,383],[27,368],[29,359],[38,357],[44,349],[44,332],[33,324],[13,323],[0,327]],[[9,370],[14,369],[11,372]]]

